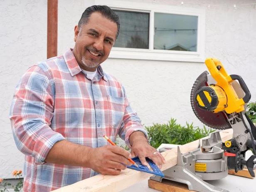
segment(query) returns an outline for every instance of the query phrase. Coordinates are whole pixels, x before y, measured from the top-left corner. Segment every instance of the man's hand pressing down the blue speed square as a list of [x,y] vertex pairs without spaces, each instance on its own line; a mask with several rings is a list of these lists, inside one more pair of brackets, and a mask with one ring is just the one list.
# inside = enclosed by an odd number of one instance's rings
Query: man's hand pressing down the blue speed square
[[162,164],[165,163],[165,158],[155,148],[148,144],[144,133],[136,131],[130,135],[130,143],[132,145],[131,154],[133,157],[140,158],[142,165],[148,166],[146,157],[150,158],[160,169]]

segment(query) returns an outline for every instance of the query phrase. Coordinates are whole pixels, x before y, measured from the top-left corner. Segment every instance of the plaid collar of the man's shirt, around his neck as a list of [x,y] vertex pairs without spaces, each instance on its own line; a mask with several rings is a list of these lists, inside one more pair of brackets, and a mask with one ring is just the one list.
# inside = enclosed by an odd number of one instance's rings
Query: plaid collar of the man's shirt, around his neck
[[[77,63],[76,58],[75,58],[72,50],[73,50],[72,48],[67,50],[67,52],[63,55],[63,57],[64,57],[64,60],[66,62],[66,66],[68,67],[71,76],[74,76],[76,74],[79,74],[82,70],[81,70],[79,64]],[[107,81],[107,79],[104,75],[104,72],[103,72],[100,65],[98,66],[97,69],[98,69],[97,73],[100,75],[100,77],[102,77],[105,81]]]

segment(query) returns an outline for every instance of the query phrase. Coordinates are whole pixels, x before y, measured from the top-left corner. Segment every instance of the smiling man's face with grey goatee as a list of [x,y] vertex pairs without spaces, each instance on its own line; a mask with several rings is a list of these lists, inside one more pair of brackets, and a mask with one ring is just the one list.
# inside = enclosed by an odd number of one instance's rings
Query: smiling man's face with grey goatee
[[98,65],[108,58],[116,32],[116,23],[98,12],[91,14],[82,29],[76,25],[73,53],[79,66],[86,71],[96,71]]

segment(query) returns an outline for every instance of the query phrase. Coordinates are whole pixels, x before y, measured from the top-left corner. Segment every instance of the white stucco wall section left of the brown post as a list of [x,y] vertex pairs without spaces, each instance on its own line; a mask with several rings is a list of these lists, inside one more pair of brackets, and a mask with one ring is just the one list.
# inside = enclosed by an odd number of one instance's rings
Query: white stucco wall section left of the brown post
[[14,143],[9,110],[15,86],[32,64],[46,59],[47,1],[0,1],[0,177],[23,170],[24,155]]

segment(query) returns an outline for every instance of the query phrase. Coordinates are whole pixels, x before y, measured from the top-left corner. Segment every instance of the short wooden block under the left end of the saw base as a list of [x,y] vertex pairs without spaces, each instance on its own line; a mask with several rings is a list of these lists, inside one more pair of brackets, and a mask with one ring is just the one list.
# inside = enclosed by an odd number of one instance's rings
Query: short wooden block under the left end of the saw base
[[192,190],[190,191],[186,184],[174,182],[171,180],[162,180],[162,182],[160,183],[158,181],[149,179],[148,187],[163,192],[195,192]]

